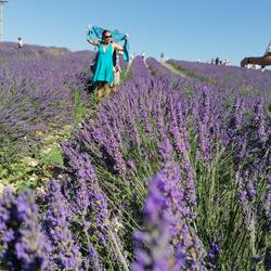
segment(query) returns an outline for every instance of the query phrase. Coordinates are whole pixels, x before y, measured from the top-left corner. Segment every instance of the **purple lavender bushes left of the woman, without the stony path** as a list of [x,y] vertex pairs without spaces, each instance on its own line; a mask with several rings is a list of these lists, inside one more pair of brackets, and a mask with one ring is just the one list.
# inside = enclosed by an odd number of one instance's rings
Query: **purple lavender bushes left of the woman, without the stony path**
[[87,98],[83,89],[91,53],[54,55],[46,50],[29,46],[13,53],[11,44],[1,44],[1,147],[23,140],[20,147],[27,149],[35,132],[70,124],[75,91]]

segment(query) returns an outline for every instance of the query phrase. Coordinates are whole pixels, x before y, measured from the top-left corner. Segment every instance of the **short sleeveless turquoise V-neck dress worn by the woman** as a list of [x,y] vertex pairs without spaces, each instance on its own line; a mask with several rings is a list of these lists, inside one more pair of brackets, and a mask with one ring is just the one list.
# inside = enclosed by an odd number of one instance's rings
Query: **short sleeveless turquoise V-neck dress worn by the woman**
[[96,68],[93,76],[93,82],[96,81],[106,81],[109,85],[113,83],[114,74],[113,74],[113,46],[109,43],[104,51],[104,44],[101,43],[98,48],[98,60]]

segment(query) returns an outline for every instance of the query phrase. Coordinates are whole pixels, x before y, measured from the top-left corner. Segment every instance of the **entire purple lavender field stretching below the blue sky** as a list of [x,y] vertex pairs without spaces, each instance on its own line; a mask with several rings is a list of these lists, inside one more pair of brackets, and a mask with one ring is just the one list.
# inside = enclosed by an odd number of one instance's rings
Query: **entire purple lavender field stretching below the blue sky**
[[[1,270],[271,269],[270,72],[138,56],[93,105],[90,52],[12,50],[0,48]],[[59,160],[44,163],[50,137]],[[34,173],[47,178],[29,189]]]

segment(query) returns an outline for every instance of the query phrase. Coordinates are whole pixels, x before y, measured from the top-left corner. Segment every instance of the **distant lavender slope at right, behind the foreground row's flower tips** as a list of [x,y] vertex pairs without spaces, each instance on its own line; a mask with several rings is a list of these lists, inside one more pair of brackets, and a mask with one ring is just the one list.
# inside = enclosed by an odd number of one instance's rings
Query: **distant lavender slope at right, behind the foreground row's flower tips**
[[[186,90],[186,95],[197,95],[197,92],[191,91],[204,85],[212,88],[215,99],[220,99],[221,104],[229,108],[236,98],[243,101],[247,108],[254,107],[257,102],[263,106],[266,114],[270,112],[271,101],[271,80],[270,70],[259,72],[244,69],[238,67],[217,66],[205,63],[192,63],[184,61],[168,62],[178,70],[185,69],[192,73],[191,77],[183,77],[181,74],[172,74],[165,66],[158,65],[157,61],[150,57],[147,64],[150,69],[158,76],[159,79],[169,80],[171,83],[179,85]],[[229,74],[231,74],[228,83],[224,83]],[[199,76],[199,77],[198,77]],[[206,80],[207,79],[207,80]],[[215,79],[215,80],[214,80]],[[222,101],[223,100],[223,101]],[[251,111],[247,111],[251,114]],[[243,121],[246,121],[245,118]]]

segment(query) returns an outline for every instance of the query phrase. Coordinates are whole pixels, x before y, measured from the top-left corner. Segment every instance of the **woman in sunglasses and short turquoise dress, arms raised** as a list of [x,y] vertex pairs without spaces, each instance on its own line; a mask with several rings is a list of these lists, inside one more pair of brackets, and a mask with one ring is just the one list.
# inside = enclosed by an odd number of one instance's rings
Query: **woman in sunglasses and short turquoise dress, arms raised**
[[105,88],[106,99],[111,94],[111,86],[114,81],[114,66],[113,66],[113,53],[114,51],[124,51],[124,48],[112,41],[109,30],[103,31],[102,41],[94,41],[88,39],[92,46],[98,47],[98,60],[95,73],[93,75],[93,82],[98,83],[96,94],[98,102],[102,100],[102,88]]

